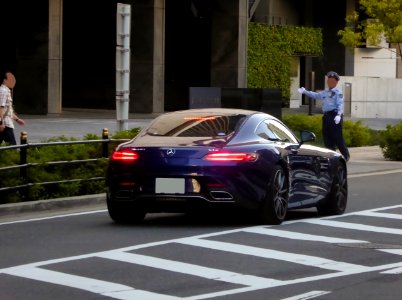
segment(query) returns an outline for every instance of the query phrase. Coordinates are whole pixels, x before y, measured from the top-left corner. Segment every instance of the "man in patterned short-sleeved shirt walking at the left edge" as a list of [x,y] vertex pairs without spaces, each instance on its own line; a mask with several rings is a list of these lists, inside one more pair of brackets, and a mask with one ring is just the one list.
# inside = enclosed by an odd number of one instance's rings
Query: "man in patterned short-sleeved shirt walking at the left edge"
[[24,125],[23,119],[19,118],[13,109],[12,90],[16,84],[13,73],[6,71],[2,75],[0,86],[0,144],[3,142],[16,145],[14,135],[14,121]]

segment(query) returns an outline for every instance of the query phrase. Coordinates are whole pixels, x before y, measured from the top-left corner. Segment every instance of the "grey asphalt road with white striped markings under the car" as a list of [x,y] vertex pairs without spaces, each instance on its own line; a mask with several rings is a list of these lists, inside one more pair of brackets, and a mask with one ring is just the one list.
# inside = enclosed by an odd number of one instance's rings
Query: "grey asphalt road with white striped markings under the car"
[[354,174],[346,214],[151,214],[140,226],[104,209],[0,218],[0,299],[400,298],[402,171]]

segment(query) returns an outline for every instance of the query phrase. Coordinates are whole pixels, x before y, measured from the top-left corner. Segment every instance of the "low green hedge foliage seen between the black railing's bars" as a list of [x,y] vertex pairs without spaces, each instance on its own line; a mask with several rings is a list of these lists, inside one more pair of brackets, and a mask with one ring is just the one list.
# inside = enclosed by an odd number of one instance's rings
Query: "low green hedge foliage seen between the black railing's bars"
[[[112,135],[112,139],[130,139],[139,132],[140,128],[119,131]],[[102,137],[87,134],[82,140],[100,140]],[[44,143],[77,141],[76,138],[65,136],[50,138]],[[117,143],[109,144],[109,153]],[[0,151],[0,167],[18,165],[20,150],[3,149]],[[0,187],[14,187],[30,183],[24,190],[0,192],[0,203],[14,203],[21,201],[46,200],[60,197],[89,195],[105,191],[104,180],[76,181],[71,183],[47,184],[38,183],[104,177],[107,159],[97,161],[49,165],[48,162],[86,160],[102,157],[101,143],[38,146],[27,149],[27,162],[37,164],[27,168],[27,182],[20,176],[20,169],[2,170],[0,172]]]

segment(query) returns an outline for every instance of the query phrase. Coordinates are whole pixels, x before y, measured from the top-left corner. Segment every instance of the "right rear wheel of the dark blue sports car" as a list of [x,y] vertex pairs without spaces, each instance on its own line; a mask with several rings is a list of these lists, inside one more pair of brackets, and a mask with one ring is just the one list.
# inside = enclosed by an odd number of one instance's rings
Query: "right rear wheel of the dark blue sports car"
[[275,166],[260,209],[263,224],[279,225],[286,218],[289,203],[289,182],[281,166]]

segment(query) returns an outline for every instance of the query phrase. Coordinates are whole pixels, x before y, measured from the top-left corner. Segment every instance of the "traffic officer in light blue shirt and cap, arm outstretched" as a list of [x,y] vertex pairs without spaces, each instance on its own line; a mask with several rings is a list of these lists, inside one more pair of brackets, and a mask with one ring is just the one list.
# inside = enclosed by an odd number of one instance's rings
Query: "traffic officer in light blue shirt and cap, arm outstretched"
[[322,101],[322,136],[325,147],[332,150],[338,148],[346,161],[348,161],[350,154],[342,134],[344,100],[342,91],[336,87],[338,81],[339,75],[334,71],[330,71],[327,73],[328,89],[317,93],[301,87],[298,92]]

